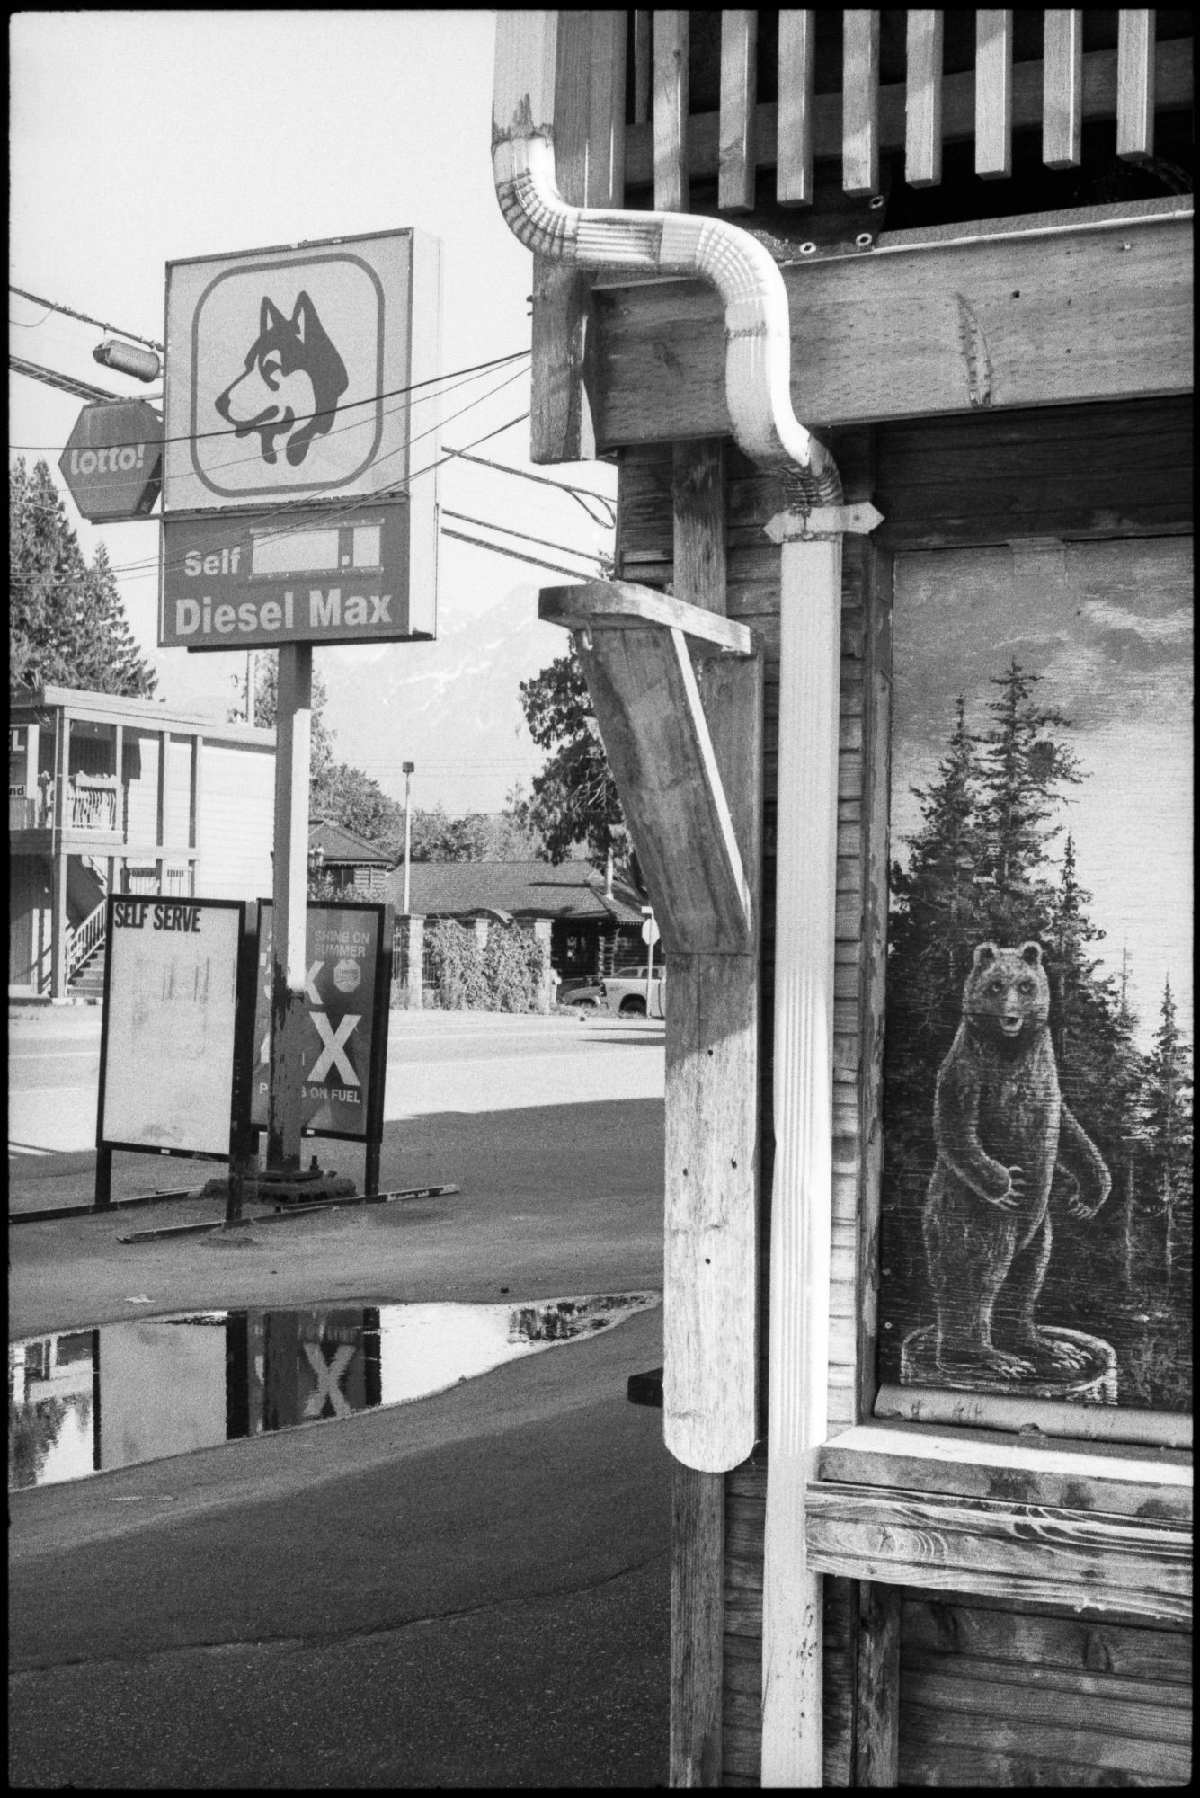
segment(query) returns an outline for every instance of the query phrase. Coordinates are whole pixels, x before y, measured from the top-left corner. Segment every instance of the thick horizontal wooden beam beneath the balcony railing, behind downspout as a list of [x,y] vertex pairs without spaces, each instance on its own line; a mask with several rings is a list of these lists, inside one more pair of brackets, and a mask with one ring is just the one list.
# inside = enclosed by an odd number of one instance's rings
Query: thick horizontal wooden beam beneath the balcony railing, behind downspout
[[[792,405],[826,428],[1191,392],[1189,196],[884,236],[783,280]],[[602,446],[729,432],[715,295],[656,282],[596,309]]]

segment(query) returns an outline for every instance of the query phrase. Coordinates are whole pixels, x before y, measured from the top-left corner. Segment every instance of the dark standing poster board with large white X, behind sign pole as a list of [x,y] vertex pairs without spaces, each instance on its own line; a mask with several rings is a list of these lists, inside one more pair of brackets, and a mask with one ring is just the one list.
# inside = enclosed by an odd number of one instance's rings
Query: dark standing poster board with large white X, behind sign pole
[[[300,1129],[379,1142],[388,1055],[390,944],[379,904],[307,908]],[[268,1126],[271,1086],[271,904],[259,924],[259,996],[250,1120]]]

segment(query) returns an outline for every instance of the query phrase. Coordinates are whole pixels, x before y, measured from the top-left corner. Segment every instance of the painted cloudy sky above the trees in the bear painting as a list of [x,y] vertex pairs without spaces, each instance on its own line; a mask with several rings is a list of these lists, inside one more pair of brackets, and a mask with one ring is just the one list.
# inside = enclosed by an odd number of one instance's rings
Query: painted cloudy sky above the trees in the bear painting
[[[893,620],[893,854],[920,829],[913,788],[936,780],[957,694],[988,730],[992,680],[1017,660],[1083,780],[1054,820],[1090,892],[1090,946],[1121,975],[1128,949],[1139,1041],[1169,978],[1193,1034],[1193,566],[1189,538],[1046,543],[896,557]],[[1063,840],[1053,845],[1062,856]]]

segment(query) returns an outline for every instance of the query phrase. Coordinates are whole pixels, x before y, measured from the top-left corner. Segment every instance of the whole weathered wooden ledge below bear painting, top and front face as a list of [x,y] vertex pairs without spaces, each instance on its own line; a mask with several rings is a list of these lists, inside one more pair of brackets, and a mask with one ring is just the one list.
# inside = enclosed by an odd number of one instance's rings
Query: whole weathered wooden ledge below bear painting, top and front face
[[819,1451],[810,1566],[1189,1627],[1191,1467],[1160,1456],[864,1424]]

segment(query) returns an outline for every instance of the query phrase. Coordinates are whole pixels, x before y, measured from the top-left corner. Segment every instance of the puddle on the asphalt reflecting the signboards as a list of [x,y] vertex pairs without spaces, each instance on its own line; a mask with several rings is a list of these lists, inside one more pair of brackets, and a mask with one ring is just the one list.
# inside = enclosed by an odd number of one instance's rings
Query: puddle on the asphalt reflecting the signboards
[[190,1311],[32,1336],[9,1343],[9,1491],[410,1404],[657,1304]]

